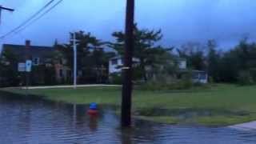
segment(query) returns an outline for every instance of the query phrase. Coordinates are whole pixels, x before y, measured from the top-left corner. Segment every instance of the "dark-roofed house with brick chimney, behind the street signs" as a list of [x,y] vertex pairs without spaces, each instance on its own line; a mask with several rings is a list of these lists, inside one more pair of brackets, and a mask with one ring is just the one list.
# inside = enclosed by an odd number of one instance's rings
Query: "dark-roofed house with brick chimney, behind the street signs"
[[[43,85],[47,81],[52,81],[48,82],[50,84],[61,83],[71,75],[70,69],[65,66],[65,58],[55,58],[58,50],[54,47],[31,46],[30,41],[27,40],[25,45],[3,44],[2,54],[7,51],[13,54],[17,61],[6,62],[6,64],[14,66],[13,69],[16,71],[18,71],[18,63],[24,63],[27,59],[32,60],[31,84]],[[22,77],[24,72],[18,72],[18,74]]]

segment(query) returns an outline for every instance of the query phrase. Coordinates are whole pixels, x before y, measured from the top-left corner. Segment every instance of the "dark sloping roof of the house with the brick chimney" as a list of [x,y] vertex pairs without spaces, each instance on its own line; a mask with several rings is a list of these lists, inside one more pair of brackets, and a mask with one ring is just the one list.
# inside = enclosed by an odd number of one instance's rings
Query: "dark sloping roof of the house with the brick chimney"
[[50,46],[30,46],[26,48],[23,45],[3,44],[2,51],[5,50],[10,50],[13,54],[18,55],[21,60],[24,60],[26,55],[32,58],[52,58],[55,49]]

